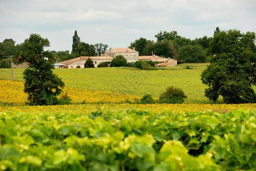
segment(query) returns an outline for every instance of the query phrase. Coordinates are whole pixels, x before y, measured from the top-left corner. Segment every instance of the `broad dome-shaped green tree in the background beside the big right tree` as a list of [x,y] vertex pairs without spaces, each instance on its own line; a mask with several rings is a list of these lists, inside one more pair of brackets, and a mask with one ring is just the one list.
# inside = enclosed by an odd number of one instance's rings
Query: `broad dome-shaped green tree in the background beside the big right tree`
[[178,60],[184,63],[204,63],[206,61],[205,50],[198,45],[186,45],[179,48]]

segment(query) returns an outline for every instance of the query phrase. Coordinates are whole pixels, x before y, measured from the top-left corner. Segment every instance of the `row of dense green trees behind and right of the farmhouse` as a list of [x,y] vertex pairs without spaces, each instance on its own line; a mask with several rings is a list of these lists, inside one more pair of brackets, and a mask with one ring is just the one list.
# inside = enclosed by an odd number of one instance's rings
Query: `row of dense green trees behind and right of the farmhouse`
[[[219,31],[217,27],[214,32]],[[194,40],[179,36],[177,31],[160,31],[155,35],[157,42],[139,38],[130,43],[129,48],[135,47],[139,55],[159,55],[182,60],[185,63],[203,63],[207,61],[209,54],[209,42],[211,37],[203,36]]]

